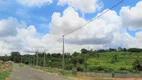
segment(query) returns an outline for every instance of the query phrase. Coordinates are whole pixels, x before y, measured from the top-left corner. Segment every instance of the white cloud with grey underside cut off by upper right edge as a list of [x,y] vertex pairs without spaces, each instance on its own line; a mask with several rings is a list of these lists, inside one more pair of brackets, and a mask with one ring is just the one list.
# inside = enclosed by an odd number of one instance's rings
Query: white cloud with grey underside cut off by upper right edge
[[120,16],[123,26],[131,30],[142,29],[142,1],[139,1],[135,7],[125,6],[120,10]]

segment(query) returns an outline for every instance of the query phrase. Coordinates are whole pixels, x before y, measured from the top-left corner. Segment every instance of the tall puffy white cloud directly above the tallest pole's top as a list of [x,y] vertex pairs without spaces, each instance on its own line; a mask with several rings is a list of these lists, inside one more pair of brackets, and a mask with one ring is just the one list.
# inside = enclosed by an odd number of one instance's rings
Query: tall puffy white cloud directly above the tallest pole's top
[[85,22],[86,21],[80,18],[73,8],[69,7],[63,12],[63,16],[57,12],[53,13],[50,30],[53,34],[65,34],[76,29]]

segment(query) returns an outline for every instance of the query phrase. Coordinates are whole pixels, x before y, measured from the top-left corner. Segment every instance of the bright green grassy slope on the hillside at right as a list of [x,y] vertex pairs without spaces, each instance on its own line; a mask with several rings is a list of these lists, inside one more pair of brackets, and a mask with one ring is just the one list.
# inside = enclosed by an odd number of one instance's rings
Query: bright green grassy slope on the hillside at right
[[[117,55],[118,61],[115,64],[111,64],[112,56]],[[142,60],[142,53],[128,53],[128,52],[104,52],[99,53],[100,58],[89,58],[87,60],[88,65],[103,66],[118,70],[120,68],[130,69],[132,63],[136,60],[137,56]]]

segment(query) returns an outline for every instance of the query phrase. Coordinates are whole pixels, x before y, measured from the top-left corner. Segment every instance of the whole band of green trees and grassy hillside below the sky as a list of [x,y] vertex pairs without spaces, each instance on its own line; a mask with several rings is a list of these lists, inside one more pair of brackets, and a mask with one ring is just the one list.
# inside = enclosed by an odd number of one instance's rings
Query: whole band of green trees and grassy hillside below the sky
[[[45,67],[62,69],[62,56],[60,53],[46,53]],[[20,55],[19,52],[11,52],[11,56],[2,56],[0,59],[44,66],[43,57],[44,52],[36,52],[35,55]],[[142,49],[119,47],[107,50],[82,49],[80,53],[66,53],[65,70],[71,71],[72,68],[77,68],[78,71],[82,72],[141,73]]]

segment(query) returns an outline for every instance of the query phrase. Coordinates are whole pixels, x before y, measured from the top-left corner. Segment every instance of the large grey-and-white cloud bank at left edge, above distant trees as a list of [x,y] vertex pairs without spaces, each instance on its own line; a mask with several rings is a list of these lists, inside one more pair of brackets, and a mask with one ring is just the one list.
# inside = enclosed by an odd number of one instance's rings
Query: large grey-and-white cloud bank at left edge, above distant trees
[[[35,51],[43,49],[45,44],[38,38],[36,28],[19,22],[16,18],[0,20],[0,55],[9,54],[11,51]],[[2,47],[2,48],[1,48]]]

